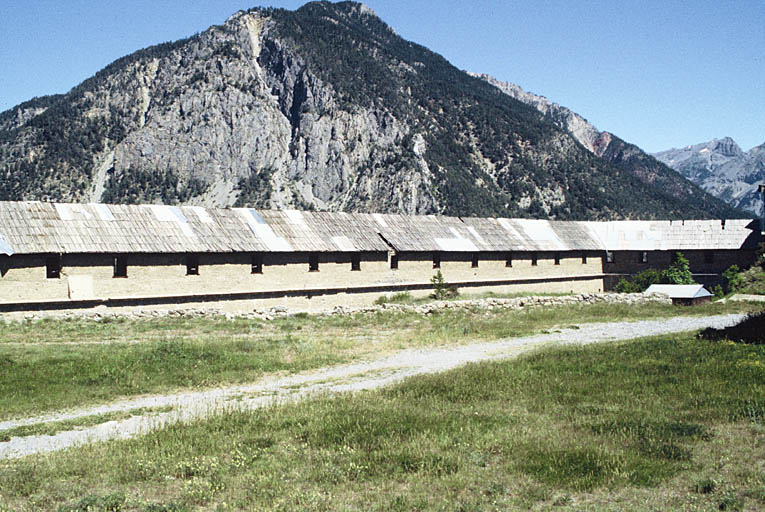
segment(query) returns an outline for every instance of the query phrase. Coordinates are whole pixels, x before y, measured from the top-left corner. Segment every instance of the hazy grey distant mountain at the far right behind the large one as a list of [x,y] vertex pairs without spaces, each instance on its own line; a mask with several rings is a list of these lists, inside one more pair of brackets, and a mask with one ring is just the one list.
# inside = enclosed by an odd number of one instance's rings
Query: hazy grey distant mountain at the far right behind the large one
[[747,152],[730,137],[654,155],[710,194],[755,216],[762,215],[765,144]]

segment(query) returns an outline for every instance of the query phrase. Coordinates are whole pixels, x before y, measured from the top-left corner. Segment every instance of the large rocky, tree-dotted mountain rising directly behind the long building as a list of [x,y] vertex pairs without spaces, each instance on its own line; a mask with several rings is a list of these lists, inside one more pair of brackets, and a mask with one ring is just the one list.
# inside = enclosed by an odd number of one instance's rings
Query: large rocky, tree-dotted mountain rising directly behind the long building
[[588,146],[575,138],[587,127],[559,117],[362,4],[252,9],[0,113],[0,199],[735,216],[635,146],[610,134]]

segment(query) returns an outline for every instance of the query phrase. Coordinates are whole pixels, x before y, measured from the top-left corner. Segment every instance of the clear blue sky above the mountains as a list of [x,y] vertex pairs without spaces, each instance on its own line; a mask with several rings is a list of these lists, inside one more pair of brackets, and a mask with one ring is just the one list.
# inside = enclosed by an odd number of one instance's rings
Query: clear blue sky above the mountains
[[[0,0],[0,111],[284,0]],[[547,96],[647,151],[765,142],[765,2],[367,0],[455,66]]]

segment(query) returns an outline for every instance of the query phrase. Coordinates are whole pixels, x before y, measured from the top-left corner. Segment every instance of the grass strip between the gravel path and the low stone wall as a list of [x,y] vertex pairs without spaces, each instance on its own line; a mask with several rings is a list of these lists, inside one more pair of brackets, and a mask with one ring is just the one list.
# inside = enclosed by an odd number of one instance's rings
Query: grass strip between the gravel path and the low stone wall
[[409,347],[522,336],[577,323],[756,307],[596,304],[431,315],[303,315],[273,322],[215,317],[0,324],[0,419],[146,393],[251,382],[265,374],[310,370]]

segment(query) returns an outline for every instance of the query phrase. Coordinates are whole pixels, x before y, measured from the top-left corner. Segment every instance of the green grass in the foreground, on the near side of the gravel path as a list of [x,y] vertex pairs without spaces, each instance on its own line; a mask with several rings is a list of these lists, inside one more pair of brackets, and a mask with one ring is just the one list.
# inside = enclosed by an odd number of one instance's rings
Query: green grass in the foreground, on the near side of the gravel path
[[0,503],[758,509],[763,397],[763,346],[681,335],[546,349],[380,391],[231,410],[134,440],[6,461]]

